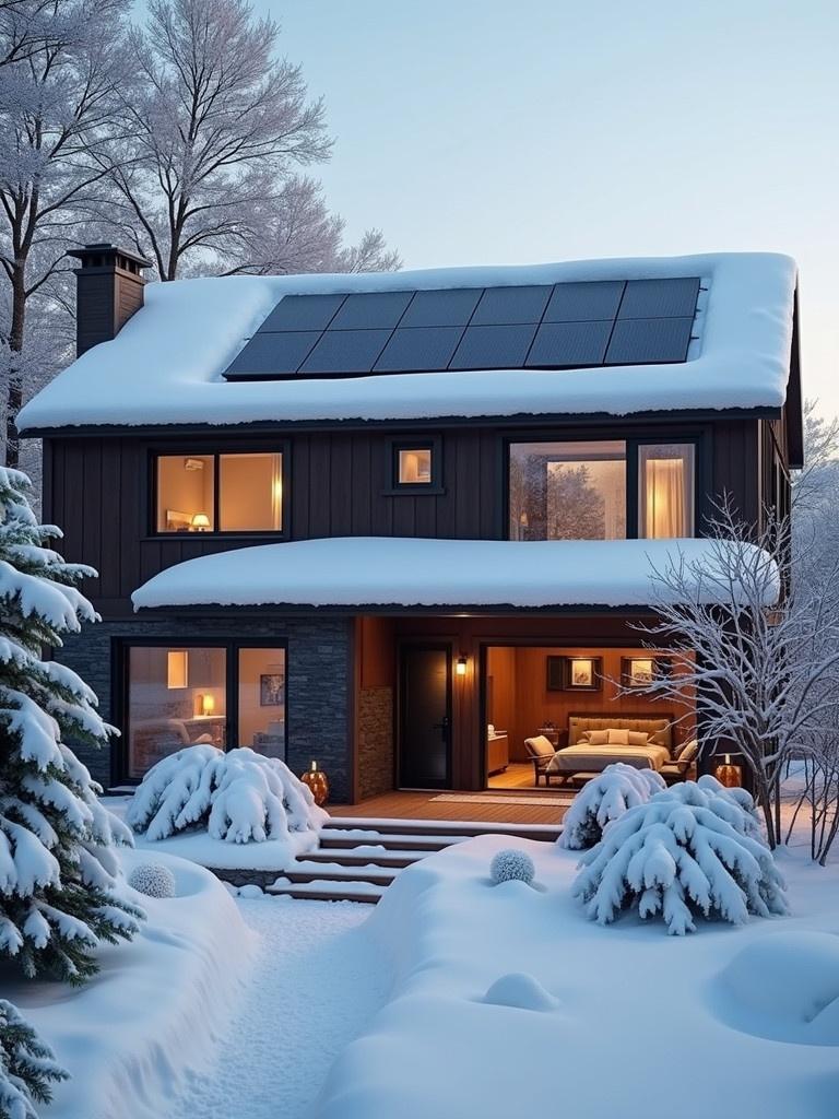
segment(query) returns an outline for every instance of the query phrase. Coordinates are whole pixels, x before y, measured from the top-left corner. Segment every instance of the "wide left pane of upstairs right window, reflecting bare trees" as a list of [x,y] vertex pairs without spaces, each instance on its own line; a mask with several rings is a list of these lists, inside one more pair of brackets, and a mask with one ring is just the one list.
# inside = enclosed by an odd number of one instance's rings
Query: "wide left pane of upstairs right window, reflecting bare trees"
[[510,538],[614,540],[626,535],[626,444],[512,443]]

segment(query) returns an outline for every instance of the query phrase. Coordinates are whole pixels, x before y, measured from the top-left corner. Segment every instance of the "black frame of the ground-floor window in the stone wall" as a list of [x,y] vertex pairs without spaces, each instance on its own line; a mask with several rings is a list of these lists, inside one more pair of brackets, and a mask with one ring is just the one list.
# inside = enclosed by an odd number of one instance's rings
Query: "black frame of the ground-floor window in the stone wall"
[[[114,638],[112,648],[112,696],[111,709],[114,723],[120,728],[119,740],[111,745],[111,783],[140,784],[142,777],[131,777],[131,726],[129,720],[131,686],[131,650],[132,648],[152,649],[224,649],[225,650],[225,746],[224,752],[236,749],[234,740],[238,739],[239,724],[239,689],[238,689],[238,652],[239,649],[282,649],[285,657],[285,755],[289,755],[289,725],[291,688],[289,686],[289,639],[254,638],[248,640],[235,637],[183,637],[177,633],[161,633],[158,637],[124,637]],[[148,771],[147,771],[148,772]]]

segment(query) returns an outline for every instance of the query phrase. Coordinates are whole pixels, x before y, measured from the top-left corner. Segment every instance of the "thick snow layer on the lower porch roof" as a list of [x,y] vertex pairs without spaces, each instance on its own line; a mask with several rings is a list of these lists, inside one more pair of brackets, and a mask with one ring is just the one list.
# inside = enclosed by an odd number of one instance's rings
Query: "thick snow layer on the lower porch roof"
[[[713,539],[436,540],[348,536],[262,544],[176,564],[145,606],[647,606],[684,558],[719,571]],[[717,601],[710,583],[703,601]],[[769,604],[769,603],[767,603]]]

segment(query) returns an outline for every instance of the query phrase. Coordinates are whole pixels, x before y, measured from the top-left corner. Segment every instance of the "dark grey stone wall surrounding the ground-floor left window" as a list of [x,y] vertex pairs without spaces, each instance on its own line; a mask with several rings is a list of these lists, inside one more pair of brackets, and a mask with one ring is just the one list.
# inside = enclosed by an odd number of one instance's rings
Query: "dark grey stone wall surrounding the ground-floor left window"
[[[183,639],[287,641],[287,744],[286,760],[295,773],[309,768],[312,758],[328,772],[330,799],[347,801],[351,794],[349,743],[351,621],[346,618],[257,618],[238,622],[223,618],[128,619],[86,626],[77,637],[68,637],[56,660],[69,666],[100,697],[102,714],[113,721],[112,670],[116,639]],[[112,783],[110,751],[74,747],[93,777]],[[119,750],[119,745],[112,749]]]

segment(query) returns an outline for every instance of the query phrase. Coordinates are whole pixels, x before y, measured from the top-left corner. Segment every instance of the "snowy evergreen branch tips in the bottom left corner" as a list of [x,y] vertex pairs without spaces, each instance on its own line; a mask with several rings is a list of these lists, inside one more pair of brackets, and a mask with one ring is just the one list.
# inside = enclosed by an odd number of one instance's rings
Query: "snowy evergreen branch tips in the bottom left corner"
[[1,1119],[37,1119],[34,1104],[49,1103],[51,1084],[67,1076],[18,1008],[0,998]]

